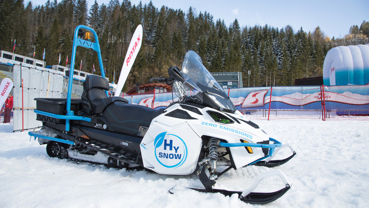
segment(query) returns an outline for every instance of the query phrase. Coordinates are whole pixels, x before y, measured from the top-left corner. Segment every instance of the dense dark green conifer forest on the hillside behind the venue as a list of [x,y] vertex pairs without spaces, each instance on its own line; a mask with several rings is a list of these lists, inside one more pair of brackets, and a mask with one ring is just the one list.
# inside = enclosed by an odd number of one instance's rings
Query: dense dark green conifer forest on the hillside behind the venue
[[[27,0],[26,0],[27,1]],[[59,3],[58,3],[59,2]],[[0,1],[0,47],[43,59],[46,65],[66,64],[72,53],[73,33],[83,24],[93,28],[100,43],[105,76],[117,82],[131,36],[138,24],[143,27],[142,46],[124,91],[152,77],[167,77],[170,66],[181,67],[186,51],[196,51],[210,72],[241,72],[244,87],[288,86],[295,79],[322,76],[324,57],[340,45],[369,43],[369,22],[347,28],[342,39],[326,37],[321,29],[276,28],[273,25],[242,27],[235,19],[226,25],[206,11],[187,11],[149,4],[132,5],[129,0],[97,2],[87,0],[50,1],[32,5],[24,0]],[[79,47],[75,68],[99,74],[97,53]]]

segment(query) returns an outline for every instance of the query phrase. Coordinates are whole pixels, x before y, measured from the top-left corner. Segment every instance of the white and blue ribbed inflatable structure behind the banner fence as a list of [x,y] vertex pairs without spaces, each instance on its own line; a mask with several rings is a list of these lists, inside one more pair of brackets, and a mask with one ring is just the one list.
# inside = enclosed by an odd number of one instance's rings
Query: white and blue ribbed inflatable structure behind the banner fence
[[327,86],[369,84],[369,44],[330,49],[324,59],[323,82]]

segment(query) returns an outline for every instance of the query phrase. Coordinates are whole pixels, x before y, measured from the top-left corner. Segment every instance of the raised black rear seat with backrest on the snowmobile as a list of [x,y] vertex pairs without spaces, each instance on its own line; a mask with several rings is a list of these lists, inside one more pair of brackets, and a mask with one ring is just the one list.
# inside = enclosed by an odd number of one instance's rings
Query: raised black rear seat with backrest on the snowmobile
[[128,103],[128,100],[123,97],[108,97],[105,90],[109,90],[109,83],[106,79],[88,75],[83,83],[82,107],[87,114],[101,114],[105,108],[115,101],[123,101]]

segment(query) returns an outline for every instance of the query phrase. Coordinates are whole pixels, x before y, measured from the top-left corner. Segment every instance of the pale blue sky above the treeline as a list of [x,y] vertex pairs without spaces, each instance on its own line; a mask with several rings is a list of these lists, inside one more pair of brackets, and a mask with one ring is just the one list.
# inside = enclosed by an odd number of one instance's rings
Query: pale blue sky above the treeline
[[[95,0],[88,0],[89,8]],[[110,0],[97,0],[99,5],[107,5]],[[32,0],[33,5],[45,4],[46,0]],[[59,1],[58,1],[59,2]],[[120,0],[122,2],[122,0]],[[139,0],[131,0],[137,5]],[[142,5],[150,0],[141,0]],[[156,8],[163,5],[188,12],[192,6],[197,14],[205,11],[213,20],[222,19],[229,26],[236,18],[241,27],[268,24],[283,28],[290,25],[296,32],[301,27],[313,32],[317,26],[329,38],[343,38],[349,33],[350,26],[363,20],[369,21],[368,0],[152,0]],[[25,0],[25,4],[27,0]]]

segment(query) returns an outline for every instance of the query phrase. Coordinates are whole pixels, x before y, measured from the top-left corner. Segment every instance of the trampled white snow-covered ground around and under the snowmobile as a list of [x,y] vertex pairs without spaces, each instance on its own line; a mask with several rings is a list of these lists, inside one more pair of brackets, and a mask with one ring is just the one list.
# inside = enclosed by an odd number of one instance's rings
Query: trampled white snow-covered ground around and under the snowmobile
[[[265,207],[367,207],[367,121],[253,121],[297,152],[276,168],[284,172],[291,189]],[[218,179],[217,187],[242,191],[268,170],[256,166],[231,170]],[[236,195],[199,193],[186,187],[202,186],[196,176],[163,176],[50,158],[46,146],[33,138],[29,141],[27,132],[13,132],[12,123],[0,123],[0,207],[255,206]],[[265,179],[258,189],[280,188],[280,180]]]

